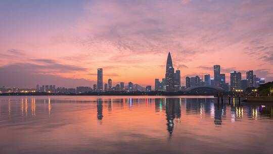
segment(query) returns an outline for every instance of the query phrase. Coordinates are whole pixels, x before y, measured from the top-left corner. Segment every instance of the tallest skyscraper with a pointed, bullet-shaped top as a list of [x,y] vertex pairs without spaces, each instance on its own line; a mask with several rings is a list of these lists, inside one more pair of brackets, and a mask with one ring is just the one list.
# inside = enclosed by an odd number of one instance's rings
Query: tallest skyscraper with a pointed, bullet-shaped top
[[167,63],[166,63],[166,91],[173,92],[174,91],[174,68],[172,67],[172,60],[170,52],[168,54]]

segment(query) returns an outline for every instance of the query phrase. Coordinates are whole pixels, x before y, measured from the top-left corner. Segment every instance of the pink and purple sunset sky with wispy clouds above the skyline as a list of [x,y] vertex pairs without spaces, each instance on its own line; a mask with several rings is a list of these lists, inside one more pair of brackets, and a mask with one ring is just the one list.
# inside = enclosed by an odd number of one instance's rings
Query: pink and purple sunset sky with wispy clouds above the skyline
[[0,87],[154,86],[168,52],[186,76],[273,81],[273,0],[0,1]]

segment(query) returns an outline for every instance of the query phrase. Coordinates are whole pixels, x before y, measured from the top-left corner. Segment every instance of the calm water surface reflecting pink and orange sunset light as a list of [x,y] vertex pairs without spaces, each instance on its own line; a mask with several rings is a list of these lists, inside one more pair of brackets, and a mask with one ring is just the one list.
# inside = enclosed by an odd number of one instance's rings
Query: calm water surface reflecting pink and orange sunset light
[[273,103],[0,96],[0,153],[272,153]]

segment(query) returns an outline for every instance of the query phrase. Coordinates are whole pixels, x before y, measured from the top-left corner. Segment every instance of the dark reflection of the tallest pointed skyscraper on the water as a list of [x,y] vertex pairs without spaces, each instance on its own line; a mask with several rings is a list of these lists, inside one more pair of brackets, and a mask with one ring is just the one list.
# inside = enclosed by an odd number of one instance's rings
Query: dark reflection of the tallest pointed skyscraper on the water
[[166,120],[167,120],[167,130],[170,135],[173,132],[175,118],[179,119],[181,117],[180,109],[180,99],[178,98],[167,98],[166,99]]

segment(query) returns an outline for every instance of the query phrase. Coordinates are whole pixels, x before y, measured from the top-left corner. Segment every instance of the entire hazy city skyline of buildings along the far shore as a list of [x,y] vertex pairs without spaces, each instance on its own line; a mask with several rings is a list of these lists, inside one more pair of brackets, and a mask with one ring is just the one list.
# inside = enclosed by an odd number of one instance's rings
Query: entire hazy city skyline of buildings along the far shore
[[[128,82],[128,86],[124,86],[124,82],[119,84],[112,84],[112,79],[108,79],[107,83],[103,83],[103,68],[97,69],[97,84],[93,85],[93,88],[80,86],[76,88],[64,88],[58,87],[56,85],[36,85],[36,89],[19,89],[16,87],[13,88],[0,88],[0,92],[48,92],[48,93],[88,93],[88,92],[132,92],[132,91],[166,91],[166,92],[187,92],[191,91],[192,88],[213,88],[219,91],[225,92],[234,92],[237,90],[245,91],[247,88],[258,88],[261,84],[265,84],[264,78],[259,78],[254,74],[253,70],[246,72],[246,79],[242,78],[242,73],[237,72],[236,70],[230,71],[230,84],[226,82],[226,74],[221,73],[221,66],[213,66],[214,77],[210,78],[210,74],[205,74],[203,79],[203,74],[200,76],[186,76],[185,82],[186,86],[181,86],[181,76],[180,70],[176,69],[174,72],[174,67],[172,63],[172,58],[170,52],[168,52],[166,60],[166,72],[165,78],[162,78],[162,81],[155,79],[154,90],[152,86],[148,85],[142,87],[139,84],[133,84]],[[104,88],[103,88],[104,84]],[[211,87],[212,86],[212,87]],[[202,89],[206,91],[205,89]],[[210,89],[211,90],[211,89]]]

